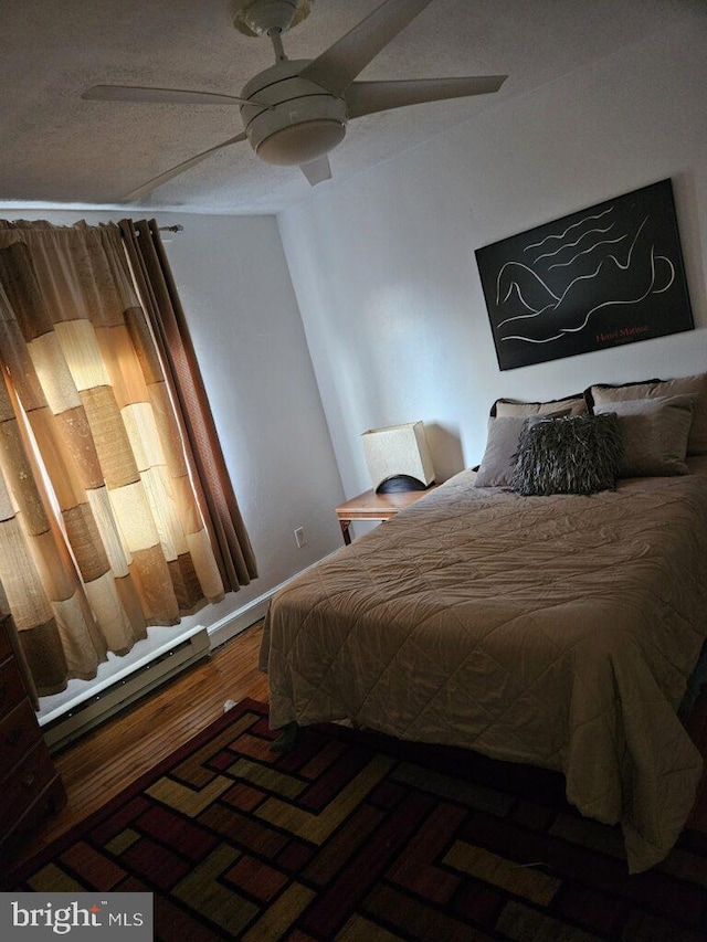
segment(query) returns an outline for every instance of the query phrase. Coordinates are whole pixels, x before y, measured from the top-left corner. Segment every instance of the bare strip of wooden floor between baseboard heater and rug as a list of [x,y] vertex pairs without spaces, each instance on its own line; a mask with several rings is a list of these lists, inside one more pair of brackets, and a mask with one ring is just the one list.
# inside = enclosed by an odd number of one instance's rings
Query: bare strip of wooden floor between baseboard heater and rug
[[252,697],[267,702],[267,676],[257,668],[261,636],[258,623],[54,753],[68,801],[31,844],[17,851],[15,862],[59,837],[188,742],[223,713],[226,700]]

